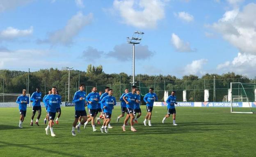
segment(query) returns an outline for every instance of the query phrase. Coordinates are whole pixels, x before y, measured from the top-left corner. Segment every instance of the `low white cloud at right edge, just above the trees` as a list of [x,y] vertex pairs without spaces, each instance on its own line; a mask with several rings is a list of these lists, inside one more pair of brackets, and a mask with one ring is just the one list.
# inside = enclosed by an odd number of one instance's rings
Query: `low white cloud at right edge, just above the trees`
[[224,62],[217,66],[217,70],[223,73],[235,72],[248,77],[253,77],[256,74],[256,55],[238,53],[232,61]]

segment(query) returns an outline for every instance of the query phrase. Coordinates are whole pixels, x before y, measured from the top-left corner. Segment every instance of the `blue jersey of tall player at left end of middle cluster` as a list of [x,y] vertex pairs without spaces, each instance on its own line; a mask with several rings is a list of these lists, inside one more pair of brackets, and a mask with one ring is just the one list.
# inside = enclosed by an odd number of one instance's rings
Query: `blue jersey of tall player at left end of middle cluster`
[[[82,97],[82,100],[80,100],[80,97]],[[77,91],[75,92],[73,101],[75,103],[75,111],[84,111],[85,110],[85,98],[86,93],[85,91]]]

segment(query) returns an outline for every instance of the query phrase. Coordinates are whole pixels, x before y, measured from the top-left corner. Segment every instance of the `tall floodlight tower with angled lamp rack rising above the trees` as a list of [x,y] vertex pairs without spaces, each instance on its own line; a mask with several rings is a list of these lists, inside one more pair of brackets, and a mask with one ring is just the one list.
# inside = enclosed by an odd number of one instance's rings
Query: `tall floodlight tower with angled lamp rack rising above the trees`
[[135,85],[135,44],[139,44],[142,40],[143,32],[135,31],[133,37],[127,37],[127,43],[133,44],[133,86]]

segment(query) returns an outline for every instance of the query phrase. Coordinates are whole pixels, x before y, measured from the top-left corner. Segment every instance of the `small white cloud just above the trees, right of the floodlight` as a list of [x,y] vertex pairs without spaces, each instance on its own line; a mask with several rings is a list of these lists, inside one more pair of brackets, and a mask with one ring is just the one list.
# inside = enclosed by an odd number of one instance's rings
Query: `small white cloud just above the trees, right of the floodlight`
[[201,60],[193,60],[191,64],[187,64],[185,68],[182,70],[183,75],[198,75],[201,76],[206,72],[203,71],[203,65],[208,62],[206,59]]

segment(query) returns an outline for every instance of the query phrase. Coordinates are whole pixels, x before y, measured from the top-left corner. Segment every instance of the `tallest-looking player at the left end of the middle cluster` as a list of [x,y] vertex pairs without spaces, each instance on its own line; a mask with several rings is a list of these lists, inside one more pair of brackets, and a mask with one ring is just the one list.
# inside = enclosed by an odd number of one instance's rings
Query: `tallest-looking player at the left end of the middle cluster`
[[[71,130],[73,136],[75,136],[75,128],[77,128],[78,133],[80,133],[80,126],[85,124],[85,122],[87,121],[87,113],[85,111],[85,98],[85,84],[80,84],[79,91],[75,92],[72,101],[75,103],[75,121],[73,122],[73,127]],[[80,116],[83,120],[78,125],[76,125]]]

